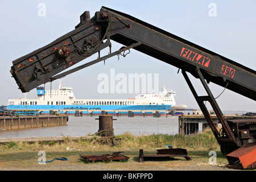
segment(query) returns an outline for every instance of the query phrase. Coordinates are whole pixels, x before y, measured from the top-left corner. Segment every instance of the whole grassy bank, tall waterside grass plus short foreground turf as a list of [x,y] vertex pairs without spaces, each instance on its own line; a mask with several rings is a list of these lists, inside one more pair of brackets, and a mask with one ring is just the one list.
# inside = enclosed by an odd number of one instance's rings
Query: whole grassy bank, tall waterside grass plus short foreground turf
[[[9,142],[0,144],[0,171],[26,170],[26,171],[184,171],[184,170],[230,170],[225,168],[227,160],[220,152],[217,140],[210,129],[203,133],[193,135],[142,135],[135,136],[125,133],[117,136],[121,138],[118,146],[100,144],[96,137],[87,140],[72,139],[63,136],[61,142]],[[157,149],[186,148],[192,160],[185,158],[167,158],[158,160],[144,160],[139,162],[139,149],[144,154],[156,154]],[[67,147],[69,150],[67,150]],[[39,165],[39,151],[46,152],[46,160],[65,157],[67,161],[54,160],[46,165]],[[127,162],[96,162],[87,163],[80,155],[102,155],[123,151],[129,156]],[[217,164],[209,164],[209,151],[216,151]]]

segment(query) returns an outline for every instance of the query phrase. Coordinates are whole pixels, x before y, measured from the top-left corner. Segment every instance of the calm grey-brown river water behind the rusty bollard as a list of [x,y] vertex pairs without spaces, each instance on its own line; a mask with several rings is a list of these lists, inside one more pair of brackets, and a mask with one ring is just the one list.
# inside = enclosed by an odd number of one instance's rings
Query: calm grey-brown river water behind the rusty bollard
[[[0,131],[0,138],[15,138],[15,137],[58,137],[61,135],[71,137],[81,137],[88,134],[94,134],[98,131],[98,116],[69,116],[68,125],[39,127],[32,129],[20,130],[3,130]],[[113,117],[114,134],[119,135],[129,132],[133,135],[148,135],[148,134],[169,134],[175,135],[179,133],[178,117],[160,117],[152,116],[141,117]],[[199,125],[199,131],[200,125]]]

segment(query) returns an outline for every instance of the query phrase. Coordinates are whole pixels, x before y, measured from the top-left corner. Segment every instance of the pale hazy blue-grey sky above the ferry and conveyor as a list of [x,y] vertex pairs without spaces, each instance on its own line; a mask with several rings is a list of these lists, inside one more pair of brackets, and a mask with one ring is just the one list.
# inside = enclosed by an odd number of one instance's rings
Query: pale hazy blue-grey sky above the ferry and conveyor
[[[45,16],[39,16],[39,3],[46,5]],[[211,11],[210,3],[216,5]],[[251,69],[256,69],[256,2],[252,1],[7,1],[0,2],[1,57],[0,57],[0,105],[7,105],[9,98],[18,98],[24,94],[11,78],[12,61],[51,43],[53,40],[75,29],[80,22],[80,15],[90,11],[92,17],[101,6],[130,14],[135,18],[162,28],[174,35],[187,39],[201,47],[228,57]],[[210,13],[216,16],[210,16]],[[214,14],[215,13],[215,14]],[[113,51],[122,45],[113,43]],[[97,56],[97,55],[96,55]],[[81,61],[81,65],[96,59],[96,56]],[[101,54],[103,56],[103,53]],[[73,66],[72,68],[75,68]],[[98,75],[110,69],[115,74],[152,73],[159,75],[159,87],[163,84],[177,92],[176,104],[184,104],[198,109],[195,98],[187,82],[177,68],[131,49],[126,57],[117,56],[104,63],[98,63],[61,79],[63,86],[71,86],[76,98],[130,98],[133,94],[101,94],[97,90],[100,83]],[[199,88],[199,80],[191,77]],[[118,82],[118,81],[117,81]],[[116,82],[116,83],[117,83]],[[57,89],[59,81],[53,81]],[[46,84],[49,89],[50,84]],[[224,88],[209,84],[214,96]],[[160,88],[159,88],[160,90]],[[27,93],[27,98],[35,98],[36,90]],[[256,102],[240,96],[230,90],[217,98],[222,110],[256,111]],[[207,104],[209,107],[209,104]],[[209,107],[210,109],[210,107]]]

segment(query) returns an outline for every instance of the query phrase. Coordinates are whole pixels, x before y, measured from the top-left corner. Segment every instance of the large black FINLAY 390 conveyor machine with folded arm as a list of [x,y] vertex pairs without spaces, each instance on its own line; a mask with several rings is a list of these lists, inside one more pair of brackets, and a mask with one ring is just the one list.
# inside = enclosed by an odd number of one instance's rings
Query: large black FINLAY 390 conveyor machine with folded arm
[[[112,52],[110,40],[123,44],[124,47]],[[108,47],[109,54],[101,57],[100,51]],[[249,140],[255,136],[251,133],[255,131],[256,119],[247,125],[250,137],[241,138],[233,133],[232,126],[230,126],[233,125],[232,122],[226,121],[207,84],[213,82],[256,101],[256,71],[131,15],[108,7],[102,7],[92,18],[90,18],[89,11],[85,11],[80,16],[80,23],[77,24],[75,30],[47,46],[14,60],[10,72],[19,89],[22,92],[29,92],[36,86],[105,61],[109,57],[115,55],[125,57],[127,53],[130,53],[131,48],[181,70],[221,146],[221,151],[236,150],[249,143]],[[98,59],[60,73],[94,53],[98,53]],[[60,74],[57,75],[58,73]],[[187,73],[191,73],[192,76],[200,80],[207,93],[205,96],[197,94]],[[217,115],[218,121],[222,125],[221,133],[214,125],[205,106],[205,101],[210,103]],[[238,124],[237,130],[238,133],[244,130],[242,124]]]

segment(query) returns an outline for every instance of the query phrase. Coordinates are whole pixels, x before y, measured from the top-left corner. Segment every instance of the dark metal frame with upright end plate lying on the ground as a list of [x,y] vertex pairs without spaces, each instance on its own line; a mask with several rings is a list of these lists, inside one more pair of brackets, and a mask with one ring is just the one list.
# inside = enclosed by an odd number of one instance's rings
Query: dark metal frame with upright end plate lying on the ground
[[139,150],[139,162],[143,162],[144,158],[175,158],[182,157],[186,160],[192,160],[190,156],[188,156],[187,150],[185,148],[167,148],[167,149],[159,149],[156,150],[158,153],[156,155],[144,155],[143,149]]

